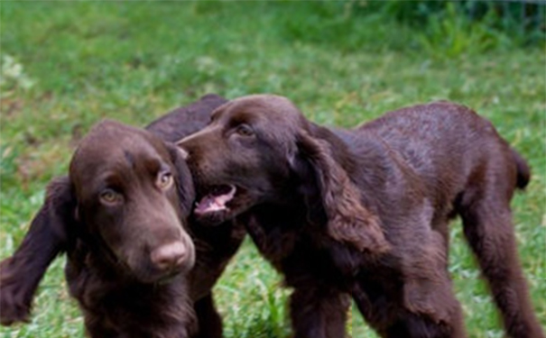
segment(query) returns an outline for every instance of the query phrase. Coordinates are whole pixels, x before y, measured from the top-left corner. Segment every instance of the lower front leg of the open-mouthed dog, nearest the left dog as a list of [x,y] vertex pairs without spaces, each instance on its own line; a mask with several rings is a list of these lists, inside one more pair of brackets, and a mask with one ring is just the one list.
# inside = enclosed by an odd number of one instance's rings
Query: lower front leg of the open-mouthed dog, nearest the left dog
[[346,336],[350,297],[336,288],[301,286],[290,297],[293,338]]

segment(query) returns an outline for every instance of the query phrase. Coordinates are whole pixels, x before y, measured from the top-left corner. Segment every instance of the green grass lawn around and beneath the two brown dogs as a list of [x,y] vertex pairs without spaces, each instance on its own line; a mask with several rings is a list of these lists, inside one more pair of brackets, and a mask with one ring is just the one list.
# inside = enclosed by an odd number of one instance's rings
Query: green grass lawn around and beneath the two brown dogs
[[[546,325],[543,45],[510,48],[504,36],[504,47],[484,51],[479,26],[461,31],[445,23],[430,28],[430,37],[385,15],[349,15],[342,3],[3,1],[0,10],[1,258],[21,242],[79,137],[103,117],[144,125],[208,92],[270,92],[289,96],[313,121],[352,126],[403,105],[449,99],[491,119],[532,165],[532,183],[514,198],[514,223]],[[450,269],[467,330],[501,337],[459,228],[453,224]],[[56,261],[42,281],[32,322],[2,327],[0,337],[83,336],[62,265]],[[216,294],[226,337],[289,334],[288,291],[251,242]],[[349,325],[355,338],[375,337],[356,311]]]

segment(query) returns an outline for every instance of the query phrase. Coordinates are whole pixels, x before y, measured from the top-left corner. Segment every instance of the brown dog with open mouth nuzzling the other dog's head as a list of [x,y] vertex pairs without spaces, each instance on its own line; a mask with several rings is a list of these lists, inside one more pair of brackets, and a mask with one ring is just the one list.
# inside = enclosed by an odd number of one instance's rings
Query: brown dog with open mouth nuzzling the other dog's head
[[331,130],[284,97],[245,96],[179,145],[189,153],[199,220],[241,220],[294,288],[296,337],[343,337],[347,294],[383,337],[464,337],[447,270],[456,215],[506,333],[544,336],[509,206],[529,169],[466,107],[416,105]]

